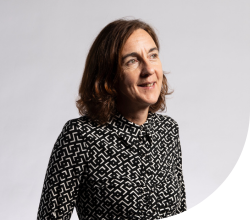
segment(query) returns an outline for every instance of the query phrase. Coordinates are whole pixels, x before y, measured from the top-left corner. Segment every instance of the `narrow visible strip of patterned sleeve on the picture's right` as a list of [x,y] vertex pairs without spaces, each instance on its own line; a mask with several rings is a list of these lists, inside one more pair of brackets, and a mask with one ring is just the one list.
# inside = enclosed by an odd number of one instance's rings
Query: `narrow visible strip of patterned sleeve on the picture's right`
[[176,136],[176,176],[179,185],[179,206],[178,206],[178,213],[184,212],[187,210],[186,205],[186,191],[185,191],[185,183],[183,178],[183,171],[182,171],[182,152],[181,152],[181,143],[180,143],[180,136],[179,136],[179,126],[177,124],[177,136]]

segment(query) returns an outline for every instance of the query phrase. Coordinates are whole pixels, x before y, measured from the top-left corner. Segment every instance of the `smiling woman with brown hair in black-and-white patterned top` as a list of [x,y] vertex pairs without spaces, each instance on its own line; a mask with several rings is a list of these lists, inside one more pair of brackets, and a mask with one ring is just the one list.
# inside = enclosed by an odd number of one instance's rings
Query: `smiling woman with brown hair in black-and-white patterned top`
[[167,79],[154,30],[108,24],[90,48],[79,118],[59,135],[38,220],[160,219],[186,210],[178,124],[165,109]]

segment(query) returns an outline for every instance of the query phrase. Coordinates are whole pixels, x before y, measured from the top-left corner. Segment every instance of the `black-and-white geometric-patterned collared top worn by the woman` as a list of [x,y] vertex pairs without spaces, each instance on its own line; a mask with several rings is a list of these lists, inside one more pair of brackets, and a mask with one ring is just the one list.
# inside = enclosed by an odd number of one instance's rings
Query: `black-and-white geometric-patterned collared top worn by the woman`
[[155,220],[186,210],[179,127],[149,113],[139,126],[69,120],[52,150],[37,220]]

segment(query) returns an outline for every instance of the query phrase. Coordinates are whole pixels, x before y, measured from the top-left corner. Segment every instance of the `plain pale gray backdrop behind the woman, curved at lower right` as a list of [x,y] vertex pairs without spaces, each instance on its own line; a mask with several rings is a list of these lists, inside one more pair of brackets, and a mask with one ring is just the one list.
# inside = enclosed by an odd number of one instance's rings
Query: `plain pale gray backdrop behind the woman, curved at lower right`
[[249,11],[248,0],[0,1],[0,218],[36,218],[53,145],[66,121],[79,117],[88,49],[124,16],[159,36],[175,90],[165,114],[180,127],[188,208],[212,194],[246,139]]

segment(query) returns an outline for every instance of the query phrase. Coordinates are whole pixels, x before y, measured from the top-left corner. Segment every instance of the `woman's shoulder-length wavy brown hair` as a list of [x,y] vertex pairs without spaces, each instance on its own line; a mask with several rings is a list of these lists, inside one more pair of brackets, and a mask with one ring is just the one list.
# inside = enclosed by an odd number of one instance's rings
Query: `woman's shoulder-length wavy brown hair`
[[[154,40],[158,50],[159,41],[152,27],[141,20],[119,19],[102,29],[92,44],[85,63],[76,106],[80,115],[105,124],[116,113],[117,82],[121,72],[121,52],[129,36],[137,29],[145,30]],[[163,74],[162,89],[158,101],[149,111],[164,110],[168,92],[167,78]]]

